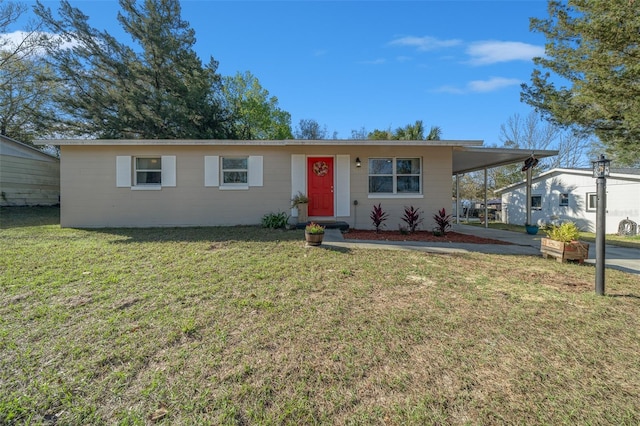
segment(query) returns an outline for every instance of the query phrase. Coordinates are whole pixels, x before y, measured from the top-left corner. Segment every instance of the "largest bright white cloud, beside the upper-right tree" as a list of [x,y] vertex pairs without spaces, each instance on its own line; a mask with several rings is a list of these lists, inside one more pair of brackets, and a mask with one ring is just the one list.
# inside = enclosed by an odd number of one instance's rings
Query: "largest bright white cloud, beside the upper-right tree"
[[530,61],[544,55],[544,47],[519,41],[478,41],[467,48],[473,65],[489,65],[498,62]]

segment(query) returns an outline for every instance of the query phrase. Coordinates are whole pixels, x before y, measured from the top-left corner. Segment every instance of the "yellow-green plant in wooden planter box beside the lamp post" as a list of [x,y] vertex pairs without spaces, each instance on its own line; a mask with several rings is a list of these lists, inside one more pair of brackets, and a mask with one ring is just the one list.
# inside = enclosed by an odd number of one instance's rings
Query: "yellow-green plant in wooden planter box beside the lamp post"
[[589,244],[578,241],[580,229],[574,222],[551,225],[546,232],[547,238],[540,242],[540,252],[545,259],[551,256],[558,262],[577,260],[583,263],[589,256]]

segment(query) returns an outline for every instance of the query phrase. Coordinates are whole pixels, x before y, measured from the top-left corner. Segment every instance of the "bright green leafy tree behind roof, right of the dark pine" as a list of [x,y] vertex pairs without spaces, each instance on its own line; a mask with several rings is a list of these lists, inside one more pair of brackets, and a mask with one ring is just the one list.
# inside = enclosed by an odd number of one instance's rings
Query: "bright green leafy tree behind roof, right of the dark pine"
[[249,71],[223,77],[222,92],[240,139],[291,139],[291,114],[278,107]]

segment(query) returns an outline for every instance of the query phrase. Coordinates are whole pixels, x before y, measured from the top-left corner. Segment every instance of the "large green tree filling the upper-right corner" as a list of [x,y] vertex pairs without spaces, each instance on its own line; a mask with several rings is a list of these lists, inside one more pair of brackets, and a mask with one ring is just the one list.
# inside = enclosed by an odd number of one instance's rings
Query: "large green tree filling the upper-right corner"
[[[625,164],[640,162],[640,5],[551,0],[531,19],[546,39],[522,100],[555,123],[595,134]],[[559,77],[559,78],[557,78]]]

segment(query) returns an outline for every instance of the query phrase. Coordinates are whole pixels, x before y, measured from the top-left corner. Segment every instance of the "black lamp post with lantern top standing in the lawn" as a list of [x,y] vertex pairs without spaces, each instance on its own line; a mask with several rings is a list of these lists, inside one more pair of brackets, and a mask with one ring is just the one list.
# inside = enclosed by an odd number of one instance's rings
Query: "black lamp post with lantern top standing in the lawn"
[[596,179],[596,294],[604,296],[604,259],[607,208],[607,176],[609,176],[610,160],[600,155],[593,162],[593,177]]

